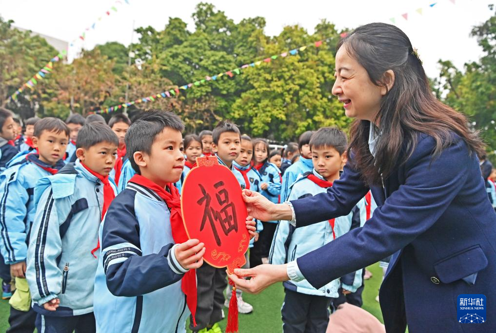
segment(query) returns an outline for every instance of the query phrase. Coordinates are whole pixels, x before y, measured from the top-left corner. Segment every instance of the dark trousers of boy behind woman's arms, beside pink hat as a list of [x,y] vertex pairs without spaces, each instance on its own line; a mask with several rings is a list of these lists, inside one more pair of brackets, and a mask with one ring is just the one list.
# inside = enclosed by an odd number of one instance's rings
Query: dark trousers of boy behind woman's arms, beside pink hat
[[284,333],[325,333],[329,323],[330,297],[284,289],[282,329]]

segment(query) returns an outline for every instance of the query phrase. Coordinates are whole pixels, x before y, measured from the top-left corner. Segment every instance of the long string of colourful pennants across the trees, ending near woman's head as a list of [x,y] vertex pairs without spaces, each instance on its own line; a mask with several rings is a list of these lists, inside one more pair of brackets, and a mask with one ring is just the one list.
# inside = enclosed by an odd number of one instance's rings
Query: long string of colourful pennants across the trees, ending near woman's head
[[[346,37],[346,33],[342,33],[341,34],[341,37],[342,38]],[[132,100],[130,102],[124,102],[122,104],[117,104],[117,105],[114,105],[114,106],[110,106],[110,107],[106,107],[106,108],[101,108],[101,109],[95,110],[94,112],[95,113],[110,113],[110,112],[117,111],[117,110],[119,110],[119,109],[121,109],[123,107],[131,106],[133,104],[153,102],[153,101],[155,101],[156,99],[159,99],[159,98],[175,97],[175,96],[179,95],[182,90],[188,90],[188,89],[191,89],[191,88],[194,88],[194,87],[203,85],[203,84],[205,84],[205,83],[207,83],[209,81],[217,81],[221,77],[233,78],[235,75],[240,75],[242,73],[242,70],[248,69],[250,67],[256,67],[256,66],[259,66],[259,65],[264,64],[264,63],[270,63],[270,62],[272,62],[273,60],[275,60],[275,59],[277,59],[279,57],[286,58],[286,57],[291,56],[291,55],[296,55],[299,52],[305,51],[309,47],[319,48],[322,45],[322,43],[327,42],[329,39],[330,38],[323,39],[323,40],[314,42],[314,43],[312,43],[310,45],[307,45],[307,46],[302,46],[300,48],[294,48],[294,49],[291,49],[289,51],[286,51],[286,52],[283,52],[283,53],[280,53],[280,54],[272,55],[272,56],[267,57],[267,58],[264,58],[262,60],[253,61],[253,62],[247,63],[247,64],[245,64],[243,66],[240,66],[238,68],[231,69],[229,71],[222,72],[222,73],[219,73],[219,74],[216,74],[216,75],[205,76],[204,78],[202,78],[202,79],[200,79],[198,81],[194,81],[192,83],[188,83],[186,85],[180,86],[180,87],[175,88],[175,89],[166,90],[164,92],[161,92],[161,93],[158,93],[158,94],[154,94],[154,95],[149,95],[149,96],[146,96],[146,97],[140,97],[140,98],[134,99],[134,100]]]

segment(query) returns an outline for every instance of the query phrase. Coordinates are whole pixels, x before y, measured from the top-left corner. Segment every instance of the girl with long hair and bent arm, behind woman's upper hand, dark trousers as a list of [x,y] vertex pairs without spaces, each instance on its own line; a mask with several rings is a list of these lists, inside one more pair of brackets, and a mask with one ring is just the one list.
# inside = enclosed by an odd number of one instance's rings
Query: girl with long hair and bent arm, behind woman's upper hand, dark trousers
[[[255,153],[253,155],[254,167],[259,171],[262,183],[260,184],[261,193],[267,199],[274,203],[279,203],[281,193],[281,171],[279,168],[268,161],[269,143],[264,139],[254,141]],[[280,155],[279,155],[280,157]],[[262,221],[262,232],[258,242],[253,247],[253,256],[250,255],[250,265],[255,267],[268,263],[270,244],[274,237],[274,232],[278,221]]]

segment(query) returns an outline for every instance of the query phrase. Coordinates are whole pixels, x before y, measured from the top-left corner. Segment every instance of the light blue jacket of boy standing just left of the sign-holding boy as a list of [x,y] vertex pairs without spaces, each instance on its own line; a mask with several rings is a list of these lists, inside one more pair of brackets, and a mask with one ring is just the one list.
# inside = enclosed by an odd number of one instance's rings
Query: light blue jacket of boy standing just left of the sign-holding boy
[[[116,191],[112,181],[111,186]],[[79,160],[37,183],[26,278],[39,314],[68,317],[93,312],[99,250],[91,252],[98,244],[103,187]],[[60,306],[45,310],[43,304],[54,298],[60,299]]]

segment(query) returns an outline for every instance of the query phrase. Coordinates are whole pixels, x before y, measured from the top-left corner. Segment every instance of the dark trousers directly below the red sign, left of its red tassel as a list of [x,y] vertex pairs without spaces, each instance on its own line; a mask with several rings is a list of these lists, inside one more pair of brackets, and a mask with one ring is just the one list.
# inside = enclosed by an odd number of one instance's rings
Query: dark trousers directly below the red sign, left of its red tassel
[[196,269],[196,327],[190,321],[189,329],[197,332],[222,320],[224,290],[227,286],[226,269],[215,268],[206,262]]

